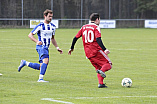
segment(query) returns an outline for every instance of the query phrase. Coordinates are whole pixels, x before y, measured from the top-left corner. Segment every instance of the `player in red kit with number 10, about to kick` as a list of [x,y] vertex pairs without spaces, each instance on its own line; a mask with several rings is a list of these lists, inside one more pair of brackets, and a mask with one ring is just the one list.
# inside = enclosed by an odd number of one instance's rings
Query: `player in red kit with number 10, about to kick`
[[72,45],[68,54],[74,51],[74,46],[78,38],[82,37],[84,51],[86,57],[90,60],[91,64],[95,67],[98,77],[98,88],[107,88],[103,83],[106,77],[105,72],[112,68],[112,62],[107,56],[110,51],[106,49],[101,40],[100,31],[100,16],[98,13],[90,15],[91,23],[82,26],[77,35],[73,38]]

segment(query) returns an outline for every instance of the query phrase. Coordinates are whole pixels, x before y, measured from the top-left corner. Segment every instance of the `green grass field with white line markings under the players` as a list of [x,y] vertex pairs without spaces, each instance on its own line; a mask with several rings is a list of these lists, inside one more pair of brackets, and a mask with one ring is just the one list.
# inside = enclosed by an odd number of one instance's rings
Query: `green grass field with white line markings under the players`
[[[157,29],[102,29],[102,40],[111,51],[113,68],[106,72],[108,88],[97,88],[94,67],[85,58],[79,39],[71,56],[68,50],[79,29],[57,29],[63,54],[50,46],[45,75],[49,83],[37,83],[39,71],[24,67],[21,59],[38,61],[31,29],[0,29],[0,104],[156,104]],[[131,88],[121,86],[129,77]]]

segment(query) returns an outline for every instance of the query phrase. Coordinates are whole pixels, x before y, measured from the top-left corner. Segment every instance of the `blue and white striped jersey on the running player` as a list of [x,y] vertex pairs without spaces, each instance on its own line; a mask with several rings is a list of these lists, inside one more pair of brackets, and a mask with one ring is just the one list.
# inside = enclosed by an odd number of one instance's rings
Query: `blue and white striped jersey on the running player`
[[[39,23],[32,33],[38,35],[38,40],[42,41],[42,47],[49,48],[52,35],[55,35],[56,26],[53,23],[46,24],[44,22]],[[38,45],[37,45],[38,46]]]

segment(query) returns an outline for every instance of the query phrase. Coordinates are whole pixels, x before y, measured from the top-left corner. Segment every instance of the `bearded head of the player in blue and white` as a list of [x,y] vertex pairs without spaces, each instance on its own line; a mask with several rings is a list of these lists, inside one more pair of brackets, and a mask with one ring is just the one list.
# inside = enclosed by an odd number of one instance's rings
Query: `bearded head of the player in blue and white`
[[53,17],[53,12],[52,10],[46,9],[43,13],[44,18],[45,18],[45,22],[46,23],[50,23]]

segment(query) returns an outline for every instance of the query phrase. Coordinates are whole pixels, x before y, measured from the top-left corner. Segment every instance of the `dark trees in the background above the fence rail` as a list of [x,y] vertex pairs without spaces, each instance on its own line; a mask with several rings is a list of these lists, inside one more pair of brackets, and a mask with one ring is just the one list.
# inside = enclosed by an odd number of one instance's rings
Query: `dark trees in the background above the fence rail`
[[[0,18],[21,18],[22,0],[0,0]],[[53,2],[52,2],[53,1]],[[110,8],[109,8],[110,1]],[[23,0],[24,18],[43,18],[46,8],[54,11],[54,19],[81,18],[81,0]],[[82,0],[83,18],[93,12],[101,18],[110,19],[155,19],[157,0]]]

